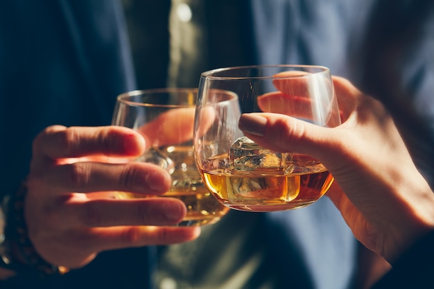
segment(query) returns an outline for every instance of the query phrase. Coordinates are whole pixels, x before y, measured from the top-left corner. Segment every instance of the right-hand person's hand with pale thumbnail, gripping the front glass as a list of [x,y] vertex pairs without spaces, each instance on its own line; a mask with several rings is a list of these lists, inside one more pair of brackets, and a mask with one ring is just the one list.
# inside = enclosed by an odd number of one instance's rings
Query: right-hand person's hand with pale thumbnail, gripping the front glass
[[354,236],[392,262],[434,229],[434,194],[383,105],[343,78],[333,77],[333,85],[343,121],[336,128],[269,113],[273,110],[243,114],[239,127],[263,147],[322,161],[337,182],[327,195]]

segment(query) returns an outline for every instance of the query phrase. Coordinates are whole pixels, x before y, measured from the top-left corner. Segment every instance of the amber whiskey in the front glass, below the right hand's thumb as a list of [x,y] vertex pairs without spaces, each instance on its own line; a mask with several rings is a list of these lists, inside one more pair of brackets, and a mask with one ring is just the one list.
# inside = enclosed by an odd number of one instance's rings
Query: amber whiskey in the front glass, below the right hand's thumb
[[303,173],[282,170],[201,170],[207,188],[225,206],[241,211],[284,211],[313,204],[333,177],[322,164]]

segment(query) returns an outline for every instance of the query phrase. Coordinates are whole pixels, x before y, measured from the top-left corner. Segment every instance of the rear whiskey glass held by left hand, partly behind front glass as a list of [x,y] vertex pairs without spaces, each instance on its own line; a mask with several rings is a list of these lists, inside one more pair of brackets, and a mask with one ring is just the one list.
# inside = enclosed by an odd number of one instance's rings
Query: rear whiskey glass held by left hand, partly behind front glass
[[[112,125],[132,128],[146,140],[146,151],[133,161],[165,168],[172,186],[162,197],[178,198],[186,217],[178,226],[214,224],[229,208],[208,191],[193,157],[193,122],[198,89],[164,88],[129,91],[116,99]],[[116,198],[155,198],[128,192]]]

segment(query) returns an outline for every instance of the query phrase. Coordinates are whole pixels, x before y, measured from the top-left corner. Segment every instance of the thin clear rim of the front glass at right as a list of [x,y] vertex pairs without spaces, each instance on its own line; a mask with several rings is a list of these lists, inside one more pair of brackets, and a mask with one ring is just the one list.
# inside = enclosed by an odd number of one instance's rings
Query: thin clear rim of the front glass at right
[[[223,71],[236,71],[243,69],[267,69],[267,68],[288,68],[288,69],[304,69],[300,71],[307,72],[298,76],[216,76],[217,73]],[[318,69],[318,71],[308,71],[307,69]],[[282,71],[283,72],[283,71]],[[313,75],[319,75],[323,73],[330,73],[328,67],[322,65],[310,65],[310,64],[261,64],[261,65],[245,65],[236,67],[221,67],[218,69],[211,69],[200,73],[201,78],[208,78],[214,80],[245,80],[245,79],[287,79],[287,78],[306,78]]]

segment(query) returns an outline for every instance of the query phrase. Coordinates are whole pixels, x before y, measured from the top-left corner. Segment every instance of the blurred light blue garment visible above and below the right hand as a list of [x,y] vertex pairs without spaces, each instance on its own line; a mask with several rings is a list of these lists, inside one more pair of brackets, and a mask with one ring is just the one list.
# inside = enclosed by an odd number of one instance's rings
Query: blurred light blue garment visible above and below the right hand
[[[399,119],[415,163],[434,187],[434,2],[251,3],[257,62],[324,65],[382,100]],[[270,214],[273,226],[286,227],[275,231],[290,234],[275,248],[290,240],[300,250],[313,288],[347,288],[355,245],[327,201]],[[285,259],[283,251],[278,253]]]

